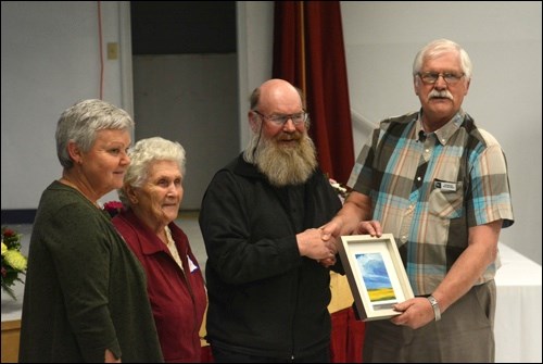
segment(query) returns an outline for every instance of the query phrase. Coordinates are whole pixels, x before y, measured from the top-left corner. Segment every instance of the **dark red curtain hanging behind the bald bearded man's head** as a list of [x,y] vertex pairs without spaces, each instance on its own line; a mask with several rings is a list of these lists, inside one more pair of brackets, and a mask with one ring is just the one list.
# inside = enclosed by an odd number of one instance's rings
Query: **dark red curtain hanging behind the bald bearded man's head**
[[273,76],[304,91],[320,167],[345,184],[354,147],[339,1],[275,1]]

